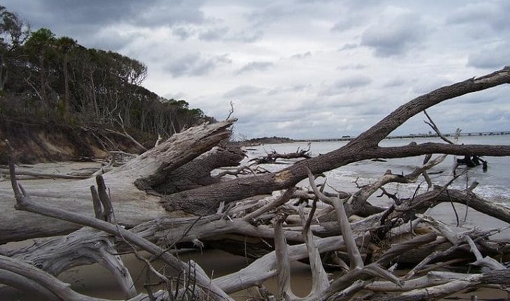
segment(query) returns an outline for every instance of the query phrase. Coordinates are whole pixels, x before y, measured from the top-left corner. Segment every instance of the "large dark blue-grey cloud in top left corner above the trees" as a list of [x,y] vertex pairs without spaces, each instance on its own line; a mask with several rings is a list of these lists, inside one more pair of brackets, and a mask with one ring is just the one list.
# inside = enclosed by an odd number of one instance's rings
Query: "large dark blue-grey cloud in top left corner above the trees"
[[[5,0],[3,5],[28,20],[32,29],[48,28],[58,36],[72,36],[82,45],[95,45],[96,34],[122,24],[172,26],[205,21],[202,1],[184,0]],[[31,9],[27,9],[27,8]],[[103,37],[105,43],[115,33]],[[183,34],[182,31],[180,31]],[[182,37],[182,36],[181,36]],[[115,43],[112,43],[115,45]]]

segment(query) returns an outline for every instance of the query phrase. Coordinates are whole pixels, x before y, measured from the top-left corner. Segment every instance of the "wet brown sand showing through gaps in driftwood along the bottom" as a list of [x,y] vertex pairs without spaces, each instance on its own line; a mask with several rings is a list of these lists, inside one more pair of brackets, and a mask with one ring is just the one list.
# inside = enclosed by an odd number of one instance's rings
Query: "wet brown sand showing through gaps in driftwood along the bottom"
[[[13,245],[10,245],[13,247]],[[147,254],[145,254],[147,255]],[[210,277],[219,277],[222,275],[228,275],[232,272],[245,268],[251,260],[243,258],[241,256],[233,256],[226,252],[219,250],[205,250],[203,252],[188,252],[186,254],[178,255],[182,260],[187,261],[193,259],[201,265],[201,267],[207,272]],[[139,261],[135,256],[124,255],[122,259],[126,267],[131,271],[131,276],[135,281],[137,291],[143,292],[144,284],[147,282],[151,283],[154,279],[147,281],[147,270],[145,264]],[[154,263],[154,267],[159,270],[163,270],[164,266],[161,263]],[[167,274],[171,274],[172,271],[165,270]],[[291,266],[291,286],[293,292],[299,296],[305,296],[309,293],[311,288],[311,274],[309,266],[304,263],[293,263]],[[331,275],[330,279],[335,275]],[[59,279],[71,284],[71,288],[85,295],[90,295],[98,298],[108,298],[113,300],[122,300],[123,295],[120,291],[118,284],[115,280],[110,277],[110,272],[98,264],[86,265],[78,268],[73,268],[62,273]],[[267,287],[271,292],[275,292],[277,288],[277,281],[275,278],[268,279],[264,282],[264,286]],[[479,300],[496,299],[507,300],[510,297],[506,292],[499,291],[490,288],[481,288],[474,293],[463,293],[456,294],[451,298],[445,298],[443,300],[471,300],[471,296],[478,296]],[[0,296],[2,301],[10,300],[22,300],[31,301],[38,300],[32,295],[23,295],[21,293],[10,296]],[[258,297],[255,291],[245,290],[239,291],[232,294],[235,300],[249,300],[251,298]],[[453,298],[453,299],[452,299]]]

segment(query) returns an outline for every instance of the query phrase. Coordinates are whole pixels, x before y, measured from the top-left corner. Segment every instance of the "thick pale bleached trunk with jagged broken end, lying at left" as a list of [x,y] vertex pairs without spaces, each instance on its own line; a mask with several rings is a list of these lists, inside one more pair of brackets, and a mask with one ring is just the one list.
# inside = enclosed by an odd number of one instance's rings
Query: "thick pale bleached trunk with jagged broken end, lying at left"
[[[115,216],[119,224],[133,227],[140,223],[168,216],[160,203],[160,196],[146,193],[135,186],[136,180],[152,179],[164,183],[166,176],[195,157],[217,146],[231,134],[233,121],[198,125],[175,134],[156,148],[143,153],[130,162],[103,175],[110,188]],[[93,178],[58,183],[26,183],[31,197],[38,203],[67,208],[76,213],[92,215],[90,187]],[[0,190],[0,243],[42,236],[70,233],[79,225],[48,219],[14,210],[12,189],[8,185]]]

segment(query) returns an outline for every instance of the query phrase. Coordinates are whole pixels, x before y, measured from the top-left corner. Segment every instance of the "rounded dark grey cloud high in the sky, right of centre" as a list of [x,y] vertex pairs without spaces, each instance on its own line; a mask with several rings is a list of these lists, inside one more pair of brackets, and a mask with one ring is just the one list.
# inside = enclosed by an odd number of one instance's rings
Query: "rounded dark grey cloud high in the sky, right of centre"
[[416,14],[381,18],[363,32],[361,45],[374,49],[376,56],[401,55],[423,41],[425,29],[426,24]]

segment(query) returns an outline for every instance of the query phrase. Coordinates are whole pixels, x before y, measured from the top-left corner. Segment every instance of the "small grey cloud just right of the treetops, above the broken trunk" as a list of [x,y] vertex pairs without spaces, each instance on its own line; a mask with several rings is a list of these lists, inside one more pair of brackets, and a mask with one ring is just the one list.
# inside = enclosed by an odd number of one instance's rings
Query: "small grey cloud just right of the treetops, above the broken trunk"
[[186,54],[178,59],[170,61],[165,70],[173,77],[201,76],[217,68],[218,65],[231,63],[227,54],[222,56],[203,57],[200,53]]

